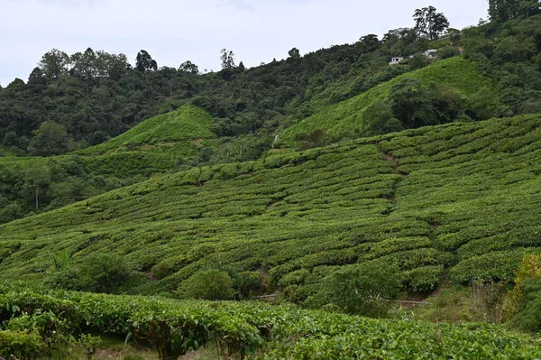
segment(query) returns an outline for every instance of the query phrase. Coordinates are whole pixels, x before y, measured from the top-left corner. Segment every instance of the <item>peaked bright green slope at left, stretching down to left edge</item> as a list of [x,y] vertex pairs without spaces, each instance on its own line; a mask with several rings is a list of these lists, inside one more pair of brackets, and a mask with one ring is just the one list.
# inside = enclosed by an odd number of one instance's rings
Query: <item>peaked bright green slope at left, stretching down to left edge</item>
[[0,156],[0,223],[177,171],[181,164],[189,167],[201,149],[216,146],[211,122],[205,110],[183,106],[79,152]]

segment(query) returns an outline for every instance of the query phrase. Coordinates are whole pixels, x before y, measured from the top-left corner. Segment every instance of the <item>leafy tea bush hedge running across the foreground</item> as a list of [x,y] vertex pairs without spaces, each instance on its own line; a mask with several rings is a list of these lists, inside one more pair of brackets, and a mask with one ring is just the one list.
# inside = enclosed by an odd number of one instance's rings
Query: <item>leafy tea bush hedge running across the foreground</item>
[[[153,346],[162,360],[176,360],[189,348],[219,345],[222,356],[248,359],[536,359],[538,342],[482,324],[429,324],[376,320],[250,303],[174,301],[160,298],[73,292],[0,289],[0,355],[10,339],[27,346],[23,356],[47,355],[62,337],[88,334],[127,338]],[[22,311],[28,315],[23,315]],[[43,315],[46,315],[44,317]],[[14,332],[32,320],[30,333]],[[44,319],[44,321],[43,321]],[[50,332],[47,329],[58,331]],[[56,357],[57,359],[59,357]],[[60,357],[61,358],[61,357]]]

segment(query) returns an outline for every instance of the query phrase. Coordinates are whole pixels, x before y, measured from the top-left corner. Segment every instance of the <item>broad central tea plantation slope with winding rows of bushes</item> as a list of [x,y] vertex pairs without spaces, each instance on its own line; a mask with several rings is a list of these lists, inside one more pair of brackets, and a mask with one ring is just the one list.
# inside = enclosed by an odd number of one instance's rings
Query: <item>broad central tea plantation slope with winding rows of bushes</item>
[[541,117],[424,127],[195,168],[0,226],[0,272],[115,254],[175,290],[197,270],[261,272],[304,300],[335,266],[399,267],[409,291],[511,279],[541,248]]

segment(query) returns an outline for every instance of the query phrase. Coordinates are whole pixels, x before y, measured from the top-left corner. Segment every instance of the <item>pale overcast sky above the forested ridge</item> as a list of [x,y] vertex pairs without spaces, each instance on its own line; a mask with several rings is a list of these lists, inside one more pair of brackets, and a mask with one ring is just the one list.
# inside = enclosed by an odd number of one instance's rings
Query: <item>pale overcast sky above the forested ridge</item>
[[368,33],[412,27],[433,5],[451,27],[487,17],[486,0],[0,0],[0,84],[24,81],[53,48],[124,53],[144,49],[159,66],[185,60],[220,68],[220,50],[246,67],[356,42]]

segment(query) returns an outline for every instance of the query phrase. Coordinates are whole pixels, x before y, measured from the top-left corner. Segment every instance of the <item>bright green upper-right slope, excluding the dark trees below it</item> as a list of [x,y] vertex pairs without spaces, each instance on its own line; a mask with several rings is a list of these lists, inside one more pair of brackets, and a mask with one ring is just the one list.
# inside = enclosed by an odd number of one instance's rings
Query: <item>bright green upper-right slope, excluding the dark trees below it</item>
[[390,88],[405,78],[416,78],[423,86],[431,83],[445,84],[463,97],[471,97],[481,88],[491,88],[489,78],[483,77],[471,61],[462,57],[442,60],[393,78],[356,97],[328,106],[316,115],[287,128],[280,134],[280,140],[293,140],[296,134],[308,134],[316,129],[323,129],[335,136],[363,134],[366,131],[363,111],[371,104],[385,100],[389,96]]

